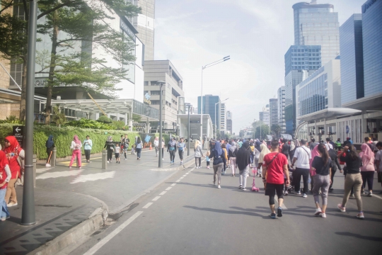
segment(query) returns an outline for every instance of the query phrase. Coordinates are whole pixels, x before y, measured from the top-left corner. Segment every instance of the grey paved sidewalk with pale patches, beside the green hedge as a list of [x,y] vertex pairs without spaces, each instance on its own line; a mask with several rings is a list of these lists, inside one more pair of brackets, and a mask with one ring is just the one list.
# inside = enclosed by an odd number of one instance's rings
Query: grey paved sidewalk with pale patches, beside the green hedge
[[[193,151],[190,154],[188,158],[185,156],[185,164],[193,164]],[[127,160],[123,159],[122,155],[120,164],[114,160],[106,170],[101,169],[101,157],[98,155],[92,155],[91,163],[83,159],[81,169],[76,168],[75,164],[69,169],[67,159],[50,168],[43,163],[37,164],[37,223],[33,226],[20,225],[23,187],[17,186],[18,205],[8,208],[11,218],[0,222],[0,254],[28,254],[97,213],[102,213],[102,208],[106,207],[106,213],[111,215],[118,214],[177,170],[183,169],[178,155],[175,164],[169,164],[166,151],[163,169],[158,169],[155,150],[143,151],[141,160],[132,154],[127,154]]]

